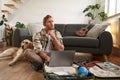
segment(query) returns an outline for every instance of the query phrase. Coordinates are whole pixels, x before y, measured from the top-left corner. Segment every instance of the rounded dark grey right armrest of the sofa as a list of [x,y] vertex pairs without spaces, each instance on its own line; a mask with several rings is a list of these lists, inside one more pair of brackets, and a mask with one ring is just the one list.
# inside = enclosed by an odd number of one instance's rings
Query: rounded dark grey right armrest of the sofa
[[99,36],[99,52],[102,54],[111,54],[113,47],[112,35],[108,31],[102,32]]

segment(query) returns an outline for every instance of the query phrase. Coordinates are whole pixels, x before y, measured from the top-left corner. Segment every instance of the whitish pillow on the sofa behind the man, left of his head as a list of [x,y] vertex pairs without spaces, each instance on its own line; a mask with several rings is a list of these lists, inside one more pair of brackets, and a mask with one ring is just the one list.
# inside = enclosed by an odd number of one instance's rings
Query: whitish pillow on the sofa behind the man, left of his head
[[36,32],[39,32],[43,28],[42,23],[29,23],[28,29],[31,35],[33,35]]

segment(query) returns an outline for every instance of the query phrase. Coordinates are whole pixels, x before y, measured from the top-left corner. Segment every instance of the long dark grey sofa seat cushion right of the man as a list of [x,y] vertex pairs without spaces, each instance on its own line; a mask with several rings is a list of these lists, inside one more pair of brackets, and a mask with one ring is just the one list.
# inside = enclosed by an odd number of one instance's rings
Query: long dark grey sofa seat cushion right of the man
[[91,37],[65,36],[63,37],[63,43],[65,46],[71,47],[99,47],[99,40]]

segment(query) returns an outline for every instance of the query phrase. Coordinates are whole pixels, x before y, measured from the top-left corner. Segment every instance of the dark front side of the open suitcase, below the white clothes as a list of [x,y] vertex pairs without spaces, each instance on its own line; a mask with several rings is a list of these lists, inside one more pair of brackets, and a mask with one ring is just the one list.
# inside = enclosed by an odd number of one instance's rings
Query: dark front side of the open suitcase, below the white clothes
[[45,68],[43,69],[43,75],[45,80],[94,80],[94,75],[92,73],[89,73],[88,76],[81,76],[77,74],[58,75],[53,72],[47,72]]

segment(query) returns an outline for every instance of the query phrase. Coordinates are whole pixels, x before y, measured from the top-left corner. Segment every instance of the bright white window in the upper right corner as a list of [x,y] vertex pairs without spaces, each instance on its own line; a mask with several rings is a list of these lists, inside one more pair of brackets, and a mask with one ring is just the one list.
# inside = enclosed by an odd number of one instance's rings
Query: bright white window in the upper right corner
[[105,12],[108,16],[120,13],[120,0],[105,0]]

